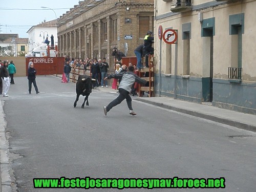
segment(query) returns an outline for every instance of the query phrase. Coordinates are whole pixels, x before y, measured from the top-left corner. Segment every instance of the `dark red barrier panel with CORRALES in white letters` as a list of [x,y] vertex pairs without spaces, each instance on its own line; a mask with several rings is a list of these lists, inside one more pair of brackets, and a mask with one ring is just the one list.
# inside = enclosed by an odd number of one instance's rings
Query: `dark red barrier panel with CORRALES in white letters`
[[[27,57],[26,69],[28,69],[29,60],[32,59],[36,75],[55,75],[62,74],[64,69],[64,57]],[[26,70],[28,75],[28,70]]]

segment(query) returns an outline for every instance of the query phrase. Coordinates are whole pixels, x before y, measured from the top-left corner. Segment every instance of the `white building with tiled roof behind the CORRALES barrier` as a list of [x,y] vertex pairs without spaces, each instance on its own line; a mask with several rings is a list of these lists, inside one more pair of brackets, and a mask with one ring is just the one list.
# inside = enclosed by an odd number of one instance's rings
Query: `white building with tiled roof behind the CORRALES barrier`
[[32,53],[34,48],[44,44],[46,37],[51,41],[51,35],[54,37],[54,45],[58,45],[56,19],[32,26],[27,33],[29,34],[29,54]]

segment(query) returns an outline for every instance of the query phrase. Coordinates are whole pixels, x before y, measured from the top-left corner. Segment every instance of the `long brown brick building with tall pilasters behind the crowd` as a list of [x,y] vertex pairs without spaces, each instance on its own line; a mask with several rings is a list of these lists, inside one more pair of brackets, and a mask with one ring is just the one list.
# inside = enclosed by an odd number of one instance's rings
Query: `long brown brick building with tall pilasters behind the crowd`
[[135,56],[148,30],[154,29],[154,0],[80,1],[58,19],[60,55],[103,58],[113,66],[112,49]]

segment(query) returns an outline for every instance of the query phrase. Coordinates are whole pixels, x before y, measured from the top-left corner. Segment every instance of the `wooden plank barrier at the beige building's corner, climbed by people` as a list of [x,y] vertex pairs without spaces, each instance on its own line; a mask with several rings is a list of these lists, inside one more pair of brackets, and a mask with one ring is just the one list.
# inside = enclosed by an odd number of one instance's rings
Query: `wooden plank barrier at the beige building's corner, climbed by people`
[[[143,59],[144,60],[144,59]],[[144,92],[148,92],[148,97],[154,97],[154,55],[148,56],[148,68],[142,68],[139,71],[139,77],[147,81],[145,87],[139,84],[139,97],[143,96]]]

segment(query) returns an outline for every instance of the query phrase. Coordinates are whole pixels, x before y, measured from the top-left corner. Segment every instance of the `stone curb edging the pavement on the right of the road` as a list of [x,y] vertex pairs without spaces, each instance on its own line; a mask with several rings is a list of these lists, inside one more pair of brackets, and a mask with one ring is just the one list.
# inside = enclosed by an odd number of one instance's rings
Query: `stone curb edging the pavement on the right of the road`
[[145,103],[148,103],[148,104],[153,104],[153,105],[159,106],[160,108],[164,108],[164,109],[168,109],[168,110],[172,110],[172,111],[177,111],[177,112],[180,112],[180,113],[192,115],[192,116],[195,116],[195,117],[200,117],[200,118],[203,118],[203,119],[208,119],[208,120],[215,121],[215,122],[218,122],[218,123],[227,124],[227,125],[230,125],[230,126],[237,127],[239,129],[256,132],[256,126],[249,125],[249,124],[246,124],[246,123],[242,123],[242,122],[239,122],[239,121],[234,121],[234,120],[230,120],[230,119],[226,119],[226,118],[220,118],[220,117],[207,115],[207,114],[203,114],[203,113],[199,113],[199,112],[191,111],[191,110],[187,110],[187,109],[177,108],[175,106],[166,105],[166,104],[155,102],[155,101],[149,101],[149,100],[146,100],[146,99],[143,99],[143,98],[136,98],[135,100],[145,102]]

